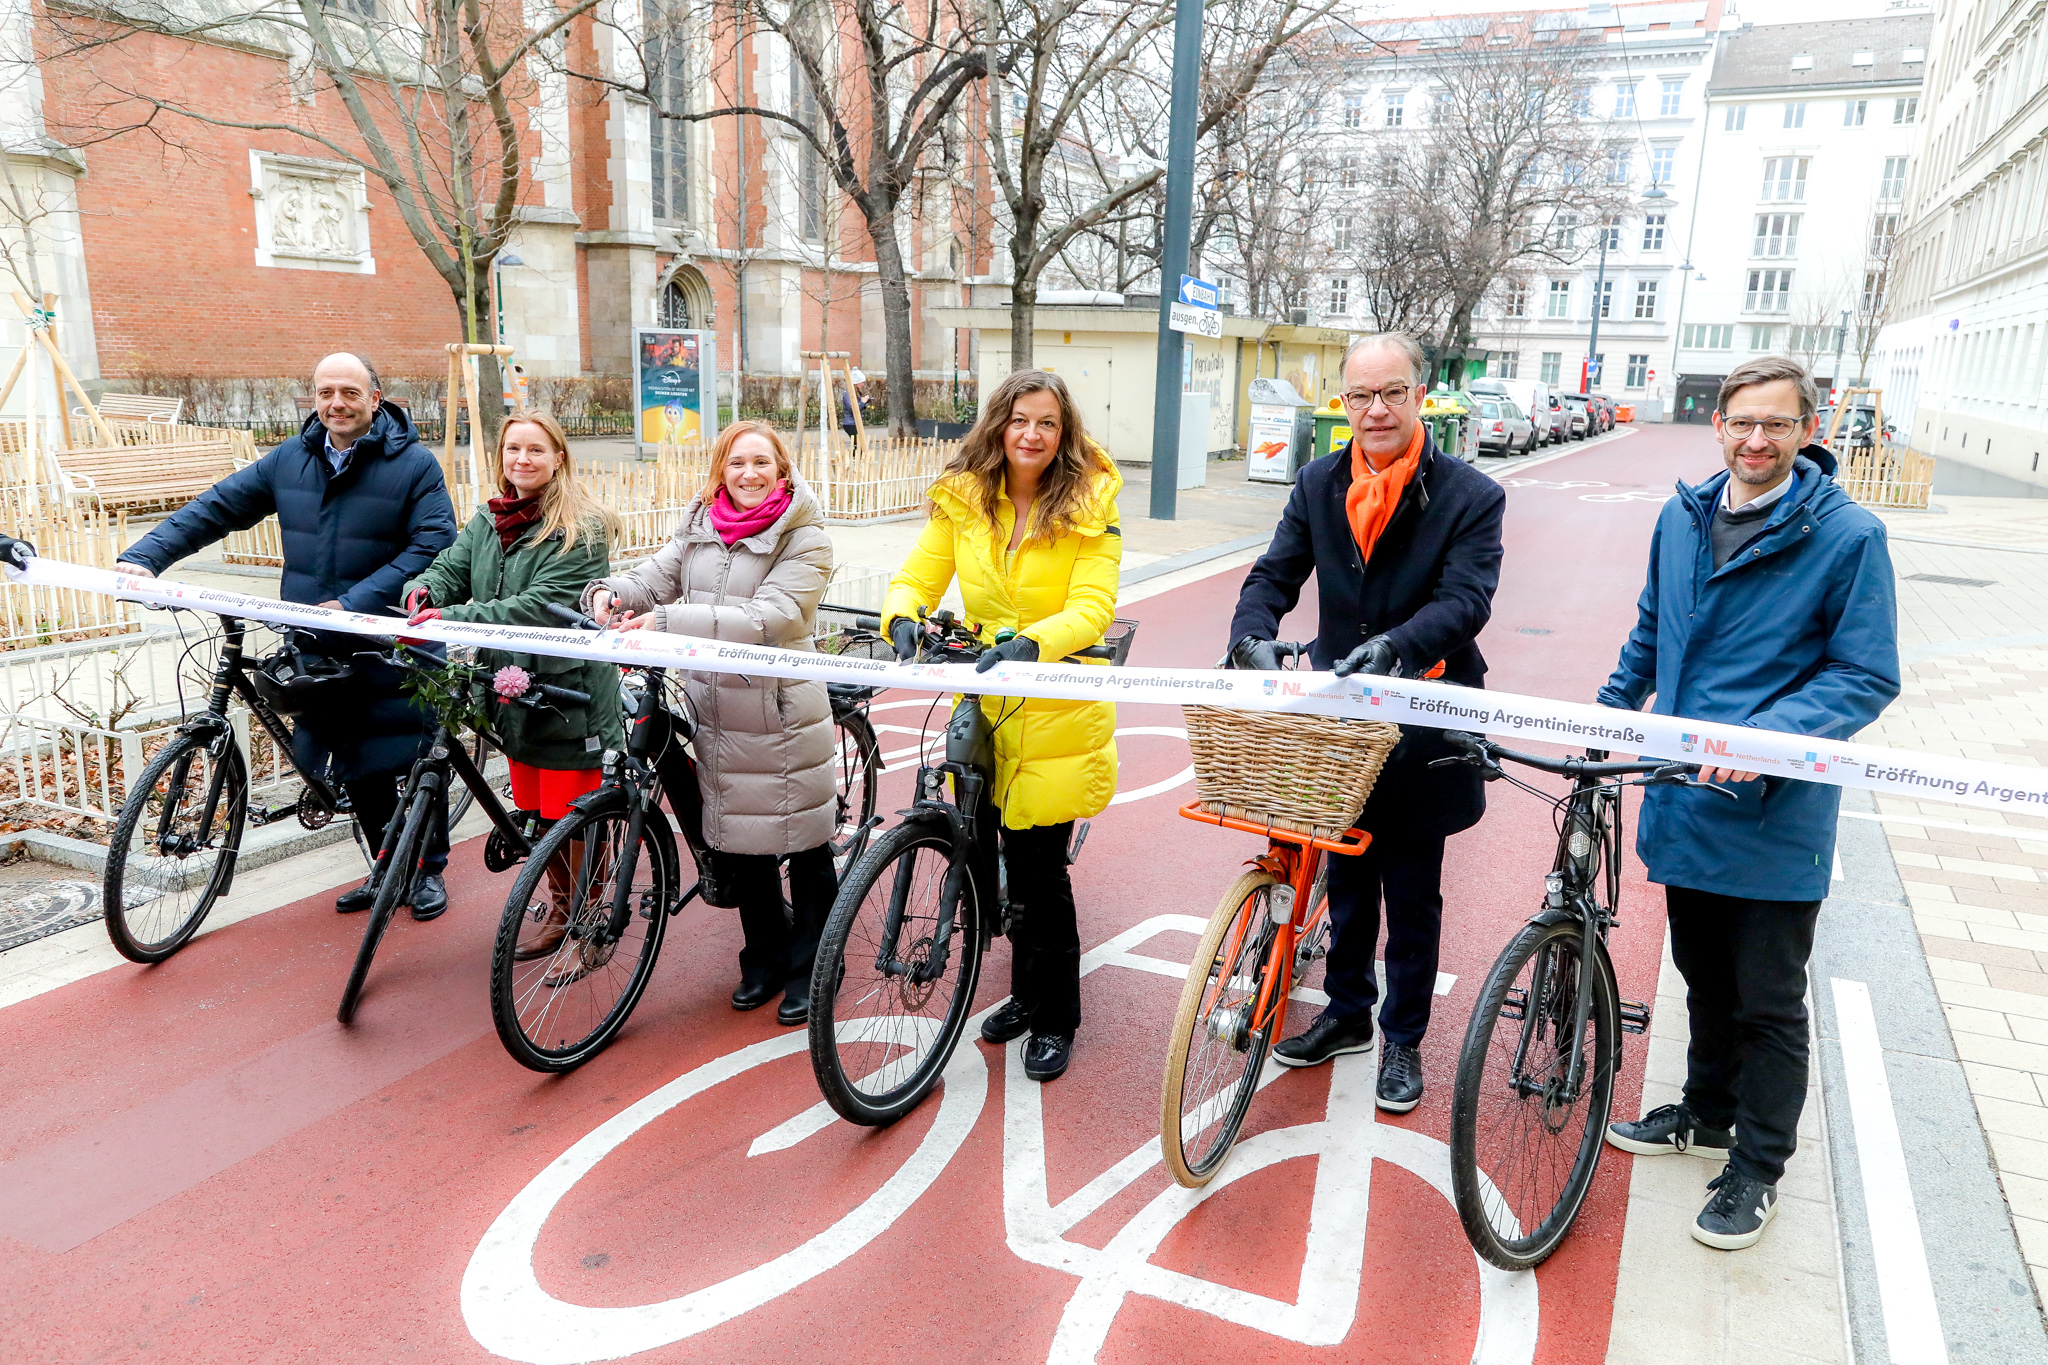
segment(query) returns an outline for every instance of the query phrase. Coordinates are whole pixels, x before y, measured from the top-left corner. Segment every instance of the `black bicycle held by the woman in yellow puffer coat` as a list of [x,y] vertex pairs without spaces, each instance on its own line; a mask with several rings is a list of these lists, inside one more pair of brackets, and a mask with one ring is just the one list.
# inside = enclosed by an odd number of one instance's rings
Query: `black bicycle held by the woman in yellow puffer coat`
[[[981,657],[979,630],[952,612],[920,618],[922,663]],[[1122,663],[1137,626],[1118,624],[1124,630],[1114,641],[1067,659]],[[903,823],[854,862],[825,919],[811,970],[811,1070],[831,1109],[852,1124],[893,1124],[938,1085],[973,1011],[981,956],[1010,931],[1001,860],[993,860],[993,888],[975,866],[997,839],[989,804],[995,724],[981,696],[954,700],[944,761],[920,765]],[[1069,864],[1085,837],[1085,825],[1077,827]],[[991,905],[983,909],[983,900]]]

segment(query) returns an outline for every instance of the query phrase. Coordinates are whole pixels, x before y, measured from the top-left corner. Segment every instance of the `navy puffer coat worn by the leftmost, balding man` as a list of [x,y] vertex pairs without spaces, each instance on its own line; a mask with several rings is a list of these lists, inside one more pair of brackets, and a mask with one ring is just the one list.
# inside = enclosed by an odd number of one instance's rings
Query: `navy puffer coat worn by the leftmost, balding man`
[[[440,465],[395,403],[379,409],[342,473],[328,465],[326,440],[319,417],[307,417],[297,436],[168,516],[121,559],[164,573],[229,532],[276,514],[285,542],[279,596],[285,602],[393,612],[406,579],[455,540],[455,508]],[[365,647],[360,636],[322,636],[322,649],[336,657]],[[332,759],[330,776],[338,782],[403,772],[432,729],[432,718],[399,692],[395,669],[354,663],[365,684],[360,706],[307,716],[295,735],[301,763],[319,767]]]

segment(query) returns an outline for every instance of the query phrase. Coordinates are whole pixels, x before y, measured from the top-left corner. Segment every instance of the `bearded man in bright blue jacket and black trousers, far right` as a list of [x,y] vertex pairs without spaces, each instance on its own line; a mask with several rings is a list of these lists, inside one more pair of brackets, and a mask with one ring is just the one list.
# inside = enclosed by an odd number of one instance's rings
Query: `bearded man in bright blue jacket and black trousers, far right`
[[[1729,471],[1679,485],[1606,706],[1849,739],[1898,696],[1884,524],[1800,450],[1817,393],[1763,356],[1720,385]],[[1737,749],[1731,759],[1739,761]],[[1702,765],[1718,792],[1653,786],[1636,851],[1663,884],[1692,1044],[1681,1103],[1608,1128],[1628,1152],[1726,1158],[1692,1236],[1737,1250],[1778,1212],[1806,1101],[1806,960],[1835,864],[1841,792]],[[1729,792],[1735,798],[1729,798]]]

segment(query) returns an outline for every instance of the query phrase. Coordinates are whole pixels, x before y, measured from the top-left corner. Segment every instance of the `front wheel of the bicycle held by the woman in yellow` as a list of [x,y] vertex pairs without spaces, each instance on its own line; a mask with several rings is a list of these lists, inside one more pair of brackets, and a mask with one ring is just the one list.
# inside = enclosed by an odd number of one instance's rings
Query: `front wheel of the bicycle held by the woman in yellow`
[[975,880],[944,905],[952,831],[928,819],[877,839],[840,882],[811,970],[811,1070],[852,1124],[909,1113],[952,1060],[981,978]]

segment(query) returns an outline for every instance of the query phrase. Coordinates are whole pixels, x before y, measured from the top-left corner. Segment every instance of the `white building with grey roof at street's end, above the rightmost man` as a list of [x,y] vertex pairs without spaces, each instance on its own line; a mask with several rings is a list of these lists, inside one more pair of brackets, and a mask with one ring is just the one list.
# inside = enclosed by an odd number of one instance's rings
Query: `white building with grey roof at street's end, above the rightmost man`
[[[1686,223],[1677,420],[1759,354],[1858,379],[1921,131],[1933,16],[1743,25],[1720,35]],[[1837,372],[1839,366],[1839,372]]]

